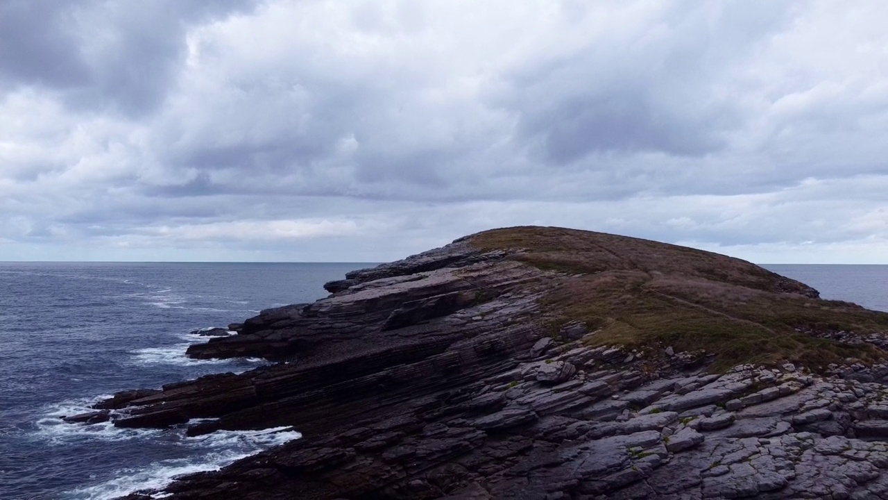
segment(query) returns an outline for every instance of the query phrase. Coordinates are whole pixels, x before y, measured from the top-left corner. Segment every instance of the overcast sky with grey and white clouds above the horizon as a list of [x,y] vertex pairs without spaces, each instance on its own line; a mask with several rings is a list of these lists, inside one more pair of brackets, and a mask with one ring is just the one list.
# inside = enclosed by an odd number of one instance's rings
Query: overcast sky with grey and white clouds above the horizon
[[0,261],[552,225],[888,263],[888,3],[3,0]]

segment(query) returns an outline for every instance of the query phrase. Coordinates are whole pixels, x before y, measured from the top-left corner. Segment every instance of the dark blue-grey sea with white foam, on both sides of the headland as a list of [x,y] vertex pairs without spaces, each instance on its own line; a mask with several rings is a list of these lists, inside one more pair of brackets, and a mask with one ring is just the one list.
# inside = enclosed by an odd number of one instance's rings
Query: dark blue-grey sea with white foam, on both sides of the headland
[[[62,423],[102,396],[259,359],[188,359],[188,332],[326,295],[365,263],[0,262],[0,498],[112,498],[297,439],[292,430],[115,429]],[[824,298],[888,310],[888,266],[766,265]]]

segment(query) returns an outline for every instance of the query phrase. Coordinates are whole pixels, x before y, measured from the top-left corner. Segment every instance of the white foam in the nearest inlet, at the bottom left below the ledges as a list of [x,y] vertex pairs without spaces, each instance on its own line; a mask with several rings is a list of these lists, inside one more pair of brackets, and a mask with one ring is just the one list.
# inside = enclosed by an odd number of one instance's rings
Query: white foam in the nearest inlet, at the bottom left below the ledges
[[[188,438],[183,440],[182,444],[210,448],[211,451],[192,458],[154,462],[141,470],[123,469],[116,472],[114,480],[69,491],[66,497],[104,500],[126,496],[139,490],[160,489],[170,484],[178,476],[194,472],[217,471],[241,458],[302,437],[299,432],[287,429],[289,428],[277,427],[263,431],[216,431],[206,436]],[[163,498],[164,496],[166,495],[155,494],[152,497]]]

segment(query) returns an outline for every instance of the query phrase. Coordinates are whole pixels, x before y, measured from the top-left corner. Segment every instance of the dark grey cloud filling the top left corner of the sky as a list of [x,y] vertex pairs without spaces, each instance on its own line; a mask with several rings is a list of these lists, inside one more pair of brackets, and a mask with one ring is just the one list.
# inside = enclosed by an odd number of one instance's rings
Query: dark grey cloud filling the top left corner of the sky
[[0,78],[7,89],[58,89],[74,109],[139,116],[170,91],[189,25],[252,6],[252,0],[9,0],[0,5]]

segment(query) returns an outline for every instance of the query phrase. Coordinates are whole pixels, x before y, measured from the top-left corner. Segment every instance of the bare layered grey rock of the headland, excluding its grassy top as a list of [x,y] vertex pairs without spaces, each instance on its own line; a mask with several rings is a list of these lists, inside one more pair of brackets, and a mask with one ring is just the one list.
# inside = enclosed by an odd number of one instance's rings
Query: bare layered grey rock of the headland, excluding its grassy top
[[303,432],[179,478],[162,492],[178,499],[888,497],[888,367],[709,373],[706,352],[595,345],[551,327],[539,298],[562,277],[457,240],[189,349],[278,364],[70,418]]

